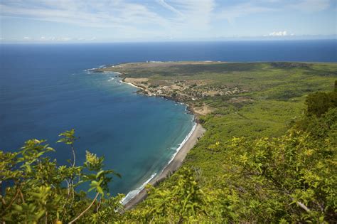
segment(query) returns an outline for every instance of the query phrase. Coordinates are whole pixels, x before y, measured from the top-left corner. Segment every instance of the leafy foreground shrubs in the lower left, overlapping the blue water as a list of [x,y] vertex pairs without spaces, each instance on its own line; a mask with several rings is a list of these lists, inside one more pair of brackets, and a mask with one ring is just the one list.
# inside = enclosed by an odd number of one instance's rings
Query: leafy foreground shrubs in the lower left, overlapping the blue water
[[[122,195],[109,196],[108,183],[112,176],[119,176],[113,170],[103,169],[103,157],[87,151],[83,166],[75,165],[75,131],[67,131],[59,142],[70,144],[73,163],[60,166],[46,156],[55,151],[45,140],[31,139],[17,152],[0,151],[0,179],[4,195],[1,195],[0,220],[10,223],[53,223],[63,221],[74,223],[102,222],[113,220],[122,208]],[[119,176],[120,177],[120,176]],[[95,197],[75,191],[75,188],[90,183],[89,191]],[[87,191],[87,192],[89,192]],[[99,214],[99,215],[97,215]]]

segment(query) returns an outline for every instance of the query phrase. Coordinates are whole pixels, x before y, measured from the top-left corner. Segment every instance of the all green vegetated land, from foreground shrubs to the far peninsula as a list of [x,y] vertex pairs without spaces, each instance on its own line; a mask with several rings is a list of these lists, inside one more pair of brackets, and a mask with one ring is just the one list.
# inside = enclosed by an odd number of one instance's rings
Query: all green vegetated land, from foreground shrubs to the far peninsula
[[[114,172],[102,171],[102,159],[88,152],[76,166],[73,131],[60,139],[73,153],[70,166],[46,157],[53,149],[36,139],[16,153],[1,151],[1,220],[70,222],[83,214],[77,222],[336,223],[337,64],[134,63],[105,70],[147,78],[142,82],[153,88],[174,86],[167,97],[211,108],[198,114],[204,137],[181,169],[148,186],[148,198],[127,211],[122,196],[107,194]],[[84,181],[92,198],[75,191]]]

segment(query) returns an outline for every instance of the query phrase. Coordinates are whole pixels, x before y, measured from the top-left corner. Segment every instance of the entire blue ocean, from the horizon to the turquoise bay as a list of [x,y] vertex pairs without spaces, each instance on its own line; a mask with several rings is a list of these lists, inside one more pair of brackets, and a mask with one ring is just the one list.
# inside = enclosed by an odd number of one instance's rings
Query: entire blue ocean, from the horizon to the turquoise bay
[[71,152],[56,144],[75,128],[79,162],[85,150],[105,156],[122,174],[112,193],[128,193],[166,166],[191,132],[186,107],[137,95],[102,65],[146,60],[337,62],[337,41],[228,41],[0,45],[0,149],[14,151],[27,139],[48,139],[60,163]]

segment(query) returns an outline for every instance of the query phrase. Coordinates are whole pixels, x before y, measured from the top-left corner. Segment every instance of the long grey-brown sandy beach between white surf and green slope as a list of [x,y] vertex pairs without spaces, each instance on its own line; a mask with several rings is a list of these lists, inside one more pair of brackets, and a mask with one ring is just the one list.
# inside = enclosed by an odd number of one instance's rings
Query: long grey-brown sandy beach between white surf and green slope
[[[160,181],[164,180],[168,174],[173,173],[176,171],[181,164],[183,163],[183,159],[185,159],[186,155],[188,154],[188,151],[190,151],[193,146],[198,142],[198,139],[203,136],[203,133],[205,132],[205,129],[200,125],[196,124],[196,129],[194,129],[191,136],[188,138],[188,140],[183,144],[181,149],[178,151],[176,156],[172,159],[171,163],[166,166],[166,168],[161,172],[161,174],[155,176],[149,183],[153,186],[156,186],[156,183],[159,183]],[[125,204],[125,209],[130,209],[133,206],[137,205],[137,203],[141,202],[146,198],[147,193],[146,190],[141,190],[137,196],[134,196],[128,203]]]

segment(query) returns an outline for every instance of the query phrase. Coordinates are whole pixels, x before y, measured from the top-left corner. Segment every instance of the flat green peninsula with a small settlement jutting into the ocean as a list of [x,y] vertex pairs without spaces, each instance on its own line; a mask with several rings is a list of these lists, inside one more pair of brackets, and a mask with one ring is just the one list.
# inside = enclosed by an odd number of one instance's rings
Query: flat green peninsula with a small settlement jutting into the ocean
[[[122,63],[94,72],[119,73],[138,92],[184,102],[196,114],[206,115],[228,105],[251,105],[268,100],[299,100],[332,85],[336,63],[226,63],[180,61]],[[319,85],[320,80],[323,82]],[[325,84],[324,84],[325,83]]]

